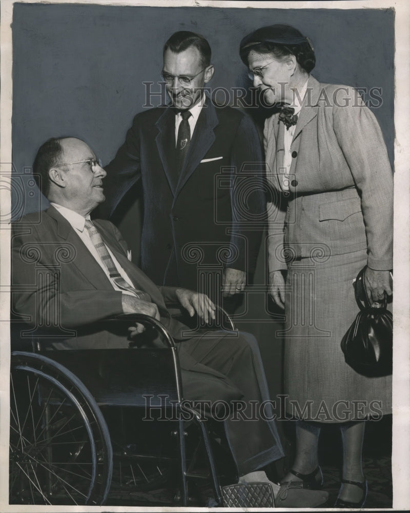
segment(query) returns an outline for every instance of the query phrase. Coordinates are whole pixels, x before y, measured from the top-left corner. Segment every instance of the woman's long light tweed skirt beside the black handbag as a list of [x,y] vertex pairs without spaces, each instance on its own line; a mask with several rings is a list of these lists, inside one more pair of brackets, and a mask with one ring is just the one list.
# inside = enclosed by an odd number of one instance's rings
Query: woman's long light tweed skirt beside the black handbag
[[345,363],[340,348],[359,312],[353,280],[366,261],[366,251],[356,251],[289,265],[280,336],[285,407],[292,417],[347,422],[392,412],[392,376],[362,376]]

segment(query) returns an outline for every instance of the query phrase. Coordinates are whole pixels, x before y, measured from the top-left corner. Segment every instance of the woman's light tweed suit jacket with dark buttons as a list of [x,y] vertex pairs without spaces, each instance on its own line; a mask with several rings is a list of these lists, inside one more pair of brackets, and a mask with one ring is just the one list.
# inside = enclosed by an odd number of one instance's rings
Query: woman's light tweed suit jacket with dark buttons
[[[290,191],[283,193],[284,125],[265,122],[269,268],[284,253],[309,257],[367,249],[373,269],[393,267],[393,173],[374,114],[351,87],[310,76],[291,152]],[[283,251],[285,249],[285,251]]]

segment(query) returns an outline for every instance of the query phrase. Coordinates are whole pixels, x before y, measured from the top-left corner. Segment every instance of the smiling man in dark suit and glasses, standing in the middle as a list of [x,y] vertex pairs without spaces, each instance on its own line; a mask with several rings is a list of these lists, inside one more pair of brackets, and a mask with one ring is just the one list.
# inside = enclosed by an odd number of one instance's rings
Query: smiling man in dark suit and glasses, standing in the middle
[[[101,212],[109,217],[141,179],[142,270],[155,283],[201,290],[219,302],[221,285],[225,295],[236,294],[254,271],[261,241],[255,221],[263,220],[265,200],[256,128],[239,110],[212,104],[203,88],[213,74],[202,36],[169,38],[162,78],[171,104],[135,116],[106,166]],[[198,263],[220,271],[221,261],[221,280],[211,272],[212,285],[198,283]]]

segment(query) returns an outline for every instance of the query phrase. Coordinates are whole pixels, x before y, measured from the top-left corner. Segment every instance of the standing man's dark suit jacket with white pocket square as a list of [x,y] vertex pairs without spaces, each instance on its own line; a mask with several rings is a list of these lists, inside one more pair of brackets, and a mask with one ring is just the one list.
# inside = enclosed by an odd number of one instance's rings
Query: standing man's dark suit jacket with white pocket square
[[253,271],[261,240],[255,219],[260,223],[266,201],[253,122],[236,109],[216,108],[208,98],[179,179],[174,152],[174,111],[159,107],[137,114],[105,168],[103,216],[141,179],[141,267],[155,283],[197,290],[197,264],[218,264],[221,246],[228,266]]

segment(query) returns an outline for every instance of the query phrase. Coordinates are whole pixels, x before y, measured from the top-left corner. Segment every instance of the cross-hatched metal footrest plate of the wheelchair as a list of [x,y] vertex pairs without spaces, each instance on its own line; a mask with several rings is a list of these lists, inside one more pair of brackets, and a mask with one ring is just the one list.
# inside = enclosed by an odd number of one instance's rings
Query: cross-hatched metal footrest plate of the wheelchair
[[222,486],[226,508],[273,508],[273,489],[269,483],[238,483]]

